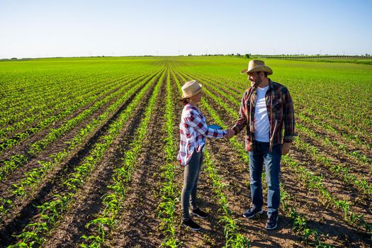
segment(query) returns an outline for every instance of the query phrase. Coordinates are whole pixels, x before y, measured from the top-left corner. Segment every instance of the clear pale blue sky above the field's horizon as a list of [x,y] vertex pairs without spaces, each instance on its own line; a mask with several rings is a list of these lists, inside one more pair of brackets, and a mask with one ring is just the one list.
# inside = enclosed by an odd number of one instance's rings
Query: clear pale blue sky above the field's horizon
[[0,0],[0,58],[372,54],[372,0]]

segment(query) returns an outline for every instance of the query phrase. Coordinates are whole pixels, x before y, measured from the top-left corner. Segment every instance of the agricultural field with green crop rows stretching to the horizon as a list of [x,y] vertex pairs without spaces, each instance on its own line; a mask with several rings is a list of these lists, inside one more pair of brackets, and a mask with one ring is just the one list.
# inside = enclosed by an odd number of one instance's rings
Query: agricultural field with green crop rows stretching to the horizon
[[242,217],[251,204],[242,132],[208,140],[201,232],[181,227],[181,86],[203,84],[208,124],[230,128],[247,59],[0,62],[0,247],[371,247],[372,65],[265,62],[295,107],[279,227]]

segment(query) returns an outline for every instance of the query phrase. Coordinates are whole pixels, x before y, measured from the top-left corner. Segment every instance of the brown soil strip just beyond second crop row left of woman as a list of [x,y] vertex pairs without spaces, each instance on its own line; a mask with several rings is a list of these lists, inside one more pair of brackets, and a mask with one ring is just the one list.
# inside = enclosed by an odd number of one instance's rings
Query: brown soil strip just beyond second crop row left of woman
[[[151,93],[151,90],[148,91],[145,99],[148,99]],[[72,247],[83,241],[81,236],[88,231],[84,226],[102,210],[102,196],[108,191],[107,185],[112,181],[113,169],[120,164],[120,158],[129,149],[130,140],[135,134],[146,105],[147,101],[142,101],[137,106],[133,118],[125,123],[125,127],[106,152],[105,159],[98,164],[97,169],[84,184],[84,188],[77,193],[74,204],[70,206],[69,212],[64,215],[57,229],[52,232],[45,247]]]

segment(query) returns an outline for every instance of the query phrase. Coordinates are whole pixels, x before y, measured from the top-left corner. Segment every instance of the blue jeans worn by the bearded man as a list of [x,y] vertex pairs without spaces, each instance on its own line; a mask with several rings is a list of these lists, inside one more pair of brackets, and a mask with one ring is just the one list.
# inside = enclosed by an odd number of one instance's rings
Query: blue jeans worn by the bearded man
[[255,208],[262,208],[262,170],[265,164],[267,183],[267,215],[278,213],[281,201],[279,174],[281,171],[281,145],[274,145],[269,152],[269,142],[258,142],[254,152],[249,152],[249,179],[252,203]]

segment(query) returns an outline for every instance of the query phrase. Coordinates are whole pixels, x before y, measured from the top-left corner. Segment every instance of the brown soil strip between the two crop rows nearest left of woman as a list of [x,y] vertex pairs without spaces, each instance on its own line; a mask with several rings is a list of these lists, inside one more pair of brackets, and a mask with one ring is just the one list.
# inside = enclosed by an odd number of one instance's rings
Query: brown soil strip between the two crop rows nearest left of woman
[[137,158],[132,179],[128,184],[123,210],[118,217],[119,224],[108,238],[110,247],[159,247],[159,218],[157,207],[161,181],[159,174],[164,164],[164,115],[166,98],[165,82],[159,89],[157,103],[147,126],[142,152]]

